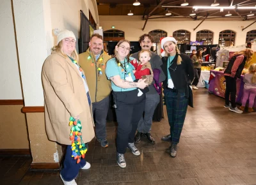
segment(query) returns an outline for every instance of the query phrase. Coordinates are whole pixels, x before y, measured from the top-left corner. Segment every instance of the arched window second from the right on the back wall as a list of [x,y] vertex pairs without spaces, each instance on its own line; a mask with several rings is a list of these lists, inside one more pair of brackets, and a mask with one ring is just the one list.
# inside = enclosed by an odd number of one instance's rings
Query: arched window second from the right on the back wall
[[224,30],[220,32],[219,45],[225,47],[234,46],[236,40],[236,33],[232,30]]

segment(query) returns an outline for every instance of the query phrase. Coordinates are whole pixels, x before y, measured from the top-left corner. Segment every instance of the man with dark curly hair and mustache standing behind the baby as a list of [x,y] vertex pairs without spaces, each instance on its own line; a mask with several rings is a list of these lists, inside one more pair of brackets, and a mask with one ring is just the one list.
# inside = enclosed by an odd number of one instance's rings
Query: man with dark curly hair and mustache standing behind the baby
[[[154,42],[152,36],[150,34],[143,34],[140,36],[140,46],[142,50],[148,50],[150,51],[150,48],[152,47],[152,43]],[[160,76],[159,76],[159,83],[163,82],[165,79],[165,75],[161,69],[161,65],[163,64],[161,61],[161,58],[157,56],[154,52],[150,51],[152,56],[150,59],[150,64],[152,70],[154,69],[159,69],[161,71]],[[131,57],[134,57],[135,59],[139,59],[138,53],[136,52],[132,54]],[[134,138],[135,142],[140,142],[141,137],[145,135],[148,138],[148,142],[150,144],[155,144],[154,138],[150,134],[151,126],[152,126],[152,118],[155,112],[155,109],[159,103],[160,96],[157,93],[155,87],[154,87],[154,82],[148,86],[148,93],[146,93],[146,103],[145,103],[145,108],[144,108],[144,117],[143,115],[141,116],[141,119],[138,123],[138,128],[137,128],[137,134]]]

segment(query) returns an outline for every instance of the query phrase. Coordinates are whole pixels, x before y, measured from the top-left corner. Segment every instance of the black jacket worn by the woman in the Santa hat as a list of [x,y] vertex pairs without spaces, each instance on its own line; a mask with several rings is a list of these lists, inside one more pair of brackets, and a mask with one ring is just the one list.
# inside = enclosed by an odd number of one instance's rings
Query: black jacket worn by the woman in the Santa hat
[[[177,65],[177,57],[178,57],[178,54],[176,54],[175,58],[173,59],[173,63],[168,68],[168,70],[170,71],[170,76],[172,78],[174,88],[177,90],[186,90],[188,88],[188,85],[190,85],[195,78],[193,62],[188,55],[180,54],[180,57],[182,58],[182,62],[180,65]],[[166,76],[166,80],[164,80],[163,82],[163,88],[165,89],[166,87],[168,87],[167,85],[168,57],[162,57],[162,61],[163,61],[163,65],[161,67],[164,72],[164,75]]]

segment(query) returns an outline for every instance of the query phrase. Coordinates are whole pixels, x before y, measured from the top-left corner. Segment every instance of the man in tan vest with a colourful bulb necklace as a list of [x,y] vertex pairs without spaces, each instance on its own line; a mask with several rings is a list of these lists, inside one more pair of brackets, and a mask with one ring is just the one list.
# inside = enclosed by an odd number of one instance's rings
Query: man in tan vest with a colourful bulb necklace
[[106,139],[106,118],[109,108],[110,81],[106,77],[106,62],[111,57],[102,50],[103,38],[100,34],[93,34],[89,48],[83,54],[79,54],[79,64],[86,75],[90,96],[92,100],[92,112],[95,118],[96,138],[102,147],[108,147]]

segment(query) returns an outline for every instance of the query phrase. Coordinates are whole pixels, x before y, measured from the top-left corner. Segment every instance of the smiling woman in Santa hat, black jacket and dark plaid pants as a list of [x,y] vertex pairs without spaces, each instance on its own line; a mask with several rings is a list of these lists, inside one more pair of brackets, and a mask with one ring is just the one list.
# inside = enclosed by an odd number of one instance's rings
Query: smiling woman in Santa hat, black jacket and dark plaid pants
[[173,37],[161,40],[162,70],[167,77],[163,82],[164,98],[170,124],[170,134],[162,138],[172,142],[170,156],[177,155],[177,144],[189,105],[189,85],[195,77],[193,63],[186,54],[180,54],[177,41]]

